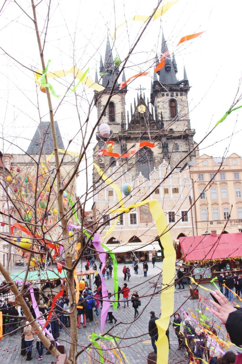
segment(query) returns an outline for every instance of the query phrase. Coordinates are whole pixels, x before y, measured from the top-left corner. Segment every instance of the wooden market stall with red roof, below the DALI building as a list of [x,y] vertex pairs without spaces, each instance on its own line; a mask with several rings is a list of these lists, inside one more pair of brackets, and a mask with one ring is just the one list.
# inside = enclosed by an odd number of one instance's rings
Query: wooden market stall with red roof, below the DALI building
[[242,233],[181,237],[177,259],[196,282],[210,282],[225,271],[242,274]]

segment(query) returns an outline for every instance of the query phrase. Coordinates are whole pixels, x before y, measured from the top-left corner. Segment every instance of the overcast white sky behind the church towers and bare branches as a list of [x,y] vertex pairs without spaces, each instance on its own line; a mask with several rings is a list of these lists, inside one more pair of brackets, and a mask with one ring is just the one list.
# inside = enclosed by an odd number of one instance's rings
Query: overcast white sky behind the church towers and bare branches
[[[30,0],[18,3],[32,16]],[[47,3],[44,0],[37,7],[41,30],[46,25]],[[104,55],[105,52],[107,33],[113,35],[115,23],[118,25],[134,15],[149,15],[157,1],[53,0],[51,4],[44,49],[46,62],[52,60],[49,70],[69,69],[73,65],[74,55],[77,66],[83,70],[90,67],[89,76],[94,79],[96,64],[99,70],[100,54]],[[174,51],[176,56],[179,79],[183,78],[185,64],[192,86],[188,98],[191,127],[196,129],[196,142],[225,114],[237,93],[242,71],[239,39],[241,13],[242,3],[239,0],[179,0],[161,19],[149,25],[127,64],[126,78],[151,67],[155,53],[160,52],[161,33],[164,31],[169,50]],[[119,28],[113,55],[119,55],[123,60],[143,26],[140,22],[128,21],[127,26]],[[206,33],[200,38],[176,47],[182,36],[203,30]],[[25,66],[41,68],[33,23],[13,1],[8,1],[1,12],[0,46]],[[26,149],[39,123],[36,86],[31,71],[21,67],[3,51],[0,54],[0,132],[3,132],[4,138],[17,145],[5,144],[4,151],[20,153],[19,147]],[[152,76],[151,67],[148,76],[128,86],[127,110],[130,110],[130,102],[136,97],[135,89],[140,84],[146,88],[146,98],[149,97]],[[68,82],[71,82],[71,77],[53,80],[52,84],[57,93],[64,95]],[[79,86],[78,93],[79,111],[84,121],[88,107],[86,99],[93,95],[93,91]],[[56,107],[60,100],[52,99]],[[49,120],[45,94],[39,94],[39,103],[42,120]],[[79,130],[74,103],[74,94],[69,92],[55,116],[64,144]],[[96,117],[94,109],[90,128]],[[200,154],[222,156],[225,149],[229,148],[229,154],[235,152],[241,155],[241,118],[242,111],[230,114],[202,144]],[[74,141],[69,147],[71,150],[78,149],[81,136],[77,135]],[[95,139],[91,148],[94,144]]]

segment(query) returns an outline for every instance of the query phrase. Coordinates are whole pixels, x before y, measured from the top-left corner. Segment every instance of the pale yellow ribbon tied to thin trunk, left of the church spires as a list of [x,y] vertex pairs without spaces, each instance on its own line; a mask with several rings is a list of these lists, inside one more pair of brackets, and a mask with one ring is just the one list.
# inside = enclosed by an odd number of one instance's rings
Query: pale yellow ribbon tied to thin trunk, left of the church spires
[[[34,80],[38,85],[41,85],[40,83],[40,77],[42,75],[42,70],[37,70],[38,73],[35,74]],[[58,70],[54,72],[46,72],[47,78],[61,78],[65,77],[66,75],[71,74],[74,75],[79,81],[85,84],[85,86],[89,88],[93,88],[96,91],[103,91],[105,87],[99,85],[98,83],[93,82],[87,75],[84,75],[85,72],[82,70],[79,70],[78,67],[71,67],[70,70]]]

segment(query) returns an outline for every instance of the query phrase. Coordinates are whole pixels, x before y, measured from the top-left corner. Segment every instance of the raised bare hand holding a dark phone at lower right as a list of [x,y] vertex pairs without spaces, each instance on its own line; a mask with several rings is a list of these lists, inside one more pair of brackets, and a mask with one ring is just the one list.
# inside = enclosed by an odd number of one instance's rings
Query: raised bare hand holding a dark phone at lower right
[[216,290],[215,292],[212,291],[211,293],[213,294],[214,298],[216,298],[216,300],[219,302],[218,304],[215,301],[209,300],[214,305],[214,307],[216,307],[216,310],[211,308],[211,311],[216,317],[221,320],[222,324],[225,325],[229,314],[233,311],[236,311],[236,308],[234,308],[229,303],[227,298],[223,296],[220,291]]

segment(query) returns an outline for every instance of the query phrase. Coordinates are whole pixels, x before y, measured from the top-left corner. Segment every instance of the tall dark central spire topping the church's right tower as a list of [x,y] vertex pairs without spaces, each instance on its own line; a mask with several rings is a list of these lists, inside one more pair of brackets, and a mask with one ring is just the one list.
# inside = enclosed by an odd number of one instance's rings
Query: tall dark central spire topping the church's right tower
[[162,44],[161,44],[161,53],[165,55],[165,67],[160,70],[160,82],[164,84],[176,84],[176,73],[175,69],[172,65],[171,56],[169,54],[169,50],[167,47],[167,42],[165,41],[164,33],[162,34]]

